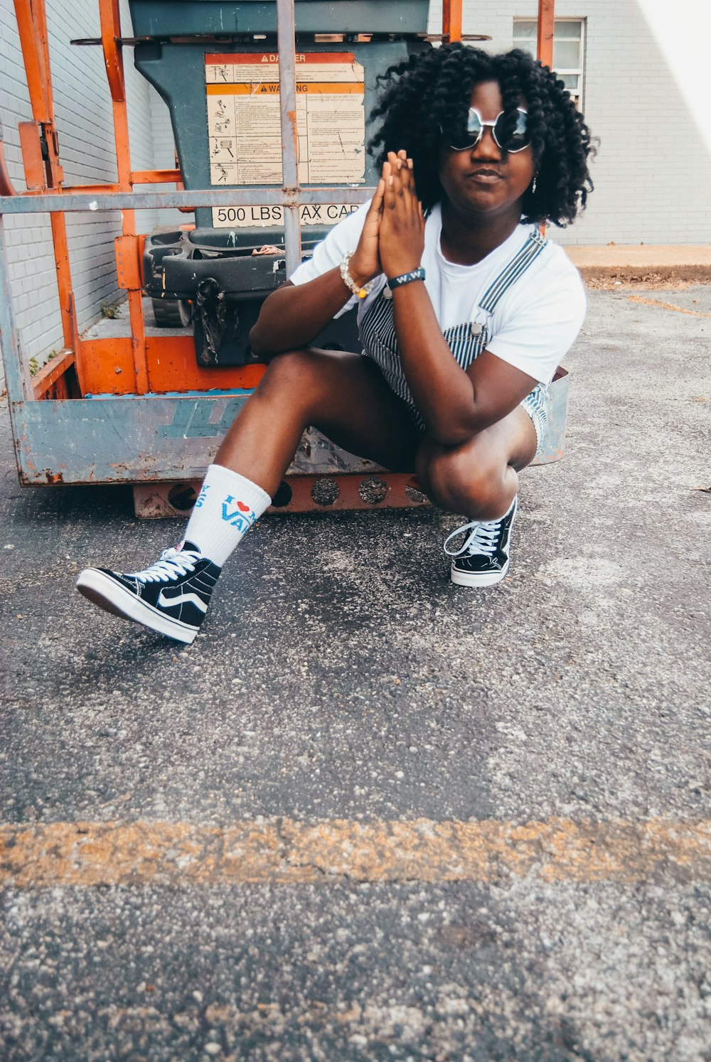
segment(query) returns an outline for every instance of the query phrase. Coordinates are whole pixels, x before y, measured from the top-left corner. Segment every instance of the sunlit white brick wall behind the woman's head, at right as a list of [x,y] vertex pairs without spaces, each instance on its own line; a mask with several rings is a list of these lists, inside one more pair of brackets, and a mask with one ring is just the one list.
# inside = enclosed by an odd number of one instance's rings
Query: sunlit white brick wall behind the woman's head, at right
[[[557,0],[557,17],[587,20],[585,114],[600,139],[588,209],[570,229],[552,229],[561,243],[711,243],[711,112],[699,129],[679,87],[687,74],[679,53],[660,50],[645,17],[657,6]],[[688,42],[700,35],[708,45],[701,23],[711,31],[710,11],[708,2],[677,0],[665,17]],[[464,0],[463,32],[489,34],[480,47],[506,51],[514,17],[537,13],[536,0]],[[441,3],[430,14],[439,32]]]

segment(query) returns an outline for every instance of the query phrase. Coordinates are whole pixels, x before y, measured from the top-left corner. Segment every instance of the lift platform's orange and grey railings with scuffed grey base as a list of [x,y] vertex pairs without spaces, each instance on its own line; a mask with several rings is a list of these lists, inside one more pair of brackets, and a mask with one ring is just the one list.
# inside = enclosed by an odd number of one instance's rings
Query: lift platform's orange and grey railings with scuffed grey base
[[[131,169],[118,0],[98,2],[102,33],[97,44],[103,49],[114,104],[118,179],[114,185],[68,188],[54,125],[44,0],[16,0],[33,121],[20,129],[27,192],[13,188],[0,142],[0,341],[18,475],[27,485],[131,483],[139,515],[179,515],[189,510],[194,485],[265,366],[205,369],[196,362],[187,331],[146,324],[142,239],[136,232],[134,211],[225,205],[238,209],[249,205],[255,189],[186,191],[179,170]],[[276,0],[276,14],[284,184],[257,191],[260,203],[283,210],[288,274],[301,260],[299,207],[332,203],[336,198],[340,203],[359,204],[373,189],[299,186],[293,136],[290,140],[295,114],[293,0]],[[541,0],[541,15],[552,39],[549,0]],[[461,2],[445,0],[442,39],[460,37]],[[177,185],[175,190],[136,190],[136,186],[170,182]],[[116,261],[118,284],[128,298],[118,319],[80,336],[65,216],[84,210],[122,211],[123,235],[116,240]],[[52,225],[64,347],[33,378],[15,327],[3,216],[41,212],[49,213]],[[548,429],[537,463],[562,457],[568,382],[562,371],[553,384]],[[309,430],[270,511],[425,502],[411,477],[354,458]]]

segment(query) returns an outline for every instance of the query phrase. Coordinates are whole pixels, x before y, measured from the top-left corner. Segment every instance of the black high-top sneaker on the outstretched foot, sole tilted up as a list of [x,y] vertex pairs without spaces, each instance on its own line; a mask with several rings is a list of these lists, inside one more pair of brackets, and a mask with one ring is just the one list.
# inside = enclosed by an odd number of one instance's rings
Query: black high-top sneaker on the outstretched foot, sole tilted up
[[143,571],[85,568],[77,589],[106,612],[189,645],[205,618],[221,570],[194,543],[185,542],[164,550],[160,560]]

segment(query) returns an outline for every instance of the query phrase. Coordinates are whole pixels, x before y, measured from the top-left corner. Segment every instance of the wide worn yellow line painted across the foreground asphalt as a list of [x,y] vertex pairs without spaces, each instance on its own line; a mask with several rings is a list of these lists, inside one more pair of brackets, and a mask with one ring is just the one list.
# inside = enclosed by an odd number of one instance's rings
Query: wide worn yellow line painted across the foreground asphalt
[[0,885],[621,881],[711,875],[711,821],[292,819],[0,826]]

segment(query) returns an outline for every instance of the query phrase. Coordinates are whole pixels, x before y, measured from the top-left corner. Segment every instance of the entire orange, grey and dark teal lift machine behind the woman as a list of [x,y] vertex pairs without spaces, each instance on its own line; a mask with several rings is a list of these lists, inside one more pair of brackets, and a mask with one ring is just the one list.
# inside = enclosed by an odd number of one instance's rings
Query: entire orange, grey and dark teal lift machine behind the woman
[[[176,515],[191,508],[191,484],[264,373],[247,343],[260,302],[328,225],[372,194],[362,144],[374,79],[413,48],[431,46],[428,2],[131,0],[132,38],[121,36],[118,0],[98,3],[101,37],[81,44],[103,52],[118,179],[67,187],[45,3],[15,0],[33,114],[20,125],[26,192],[10,181],[0,140],[0,341],[18,474],[27,485],[131,483],[139,515]],[[437,38],[461,38],[461,0],[444,0]],[[544,62],[552,44],[553,0],[540,0]],[[169,105],[180,169],[132,169],[129,47]],[[145,190],[157,184],[176,187]],[[194,227],[137,232],[135,210],[174,207],[194,210]],[[85,210],[121,210],[116,268],[130,336],[79,332],[65,219]],[[40,212],[51,219],[64,344],[32,377],[15,327],[3,215]],[[192,335],[147,328],[145,293],[182,311]],[[343,327],[326,329],[322,341],[348,345]],[[542,462],[562,456],[566,376],[553,395]],[[272,510],[424,500],[408,476],[309,431]]]

